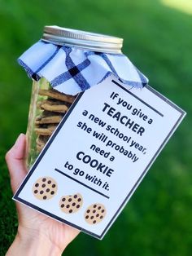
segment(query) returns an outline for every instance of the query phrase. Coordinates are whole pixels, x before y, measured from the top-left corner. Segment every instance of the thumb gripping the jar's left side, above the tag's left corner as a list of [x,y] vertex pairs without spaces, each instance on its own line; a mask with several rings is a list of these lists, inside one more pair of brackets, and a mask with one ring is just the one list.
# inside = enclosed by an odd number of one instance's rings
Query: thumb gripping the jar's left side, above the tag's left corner
[[20,183],[27,174],[27,168],[24,163],[26,139],[21,134],[16,140],[14,146],[7,152],[6,161],[11,176],[11,188],[15,192]]

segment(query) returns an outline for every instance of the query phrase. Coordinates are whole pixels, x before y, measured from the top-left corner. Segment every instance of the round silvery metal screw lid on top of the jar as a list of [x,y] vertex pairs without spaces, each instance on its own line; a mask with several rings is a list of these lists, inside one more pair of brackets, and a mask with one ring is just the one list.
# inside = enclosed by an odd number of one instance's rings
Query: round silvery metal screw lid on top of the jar
[[83,50],[107,53],[121,53],[120,49],[123,46],[122,38],[58,26],[45,26],[41,39],[57,45],[76,46]]

